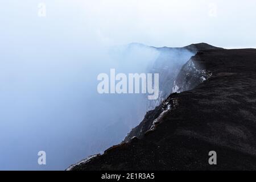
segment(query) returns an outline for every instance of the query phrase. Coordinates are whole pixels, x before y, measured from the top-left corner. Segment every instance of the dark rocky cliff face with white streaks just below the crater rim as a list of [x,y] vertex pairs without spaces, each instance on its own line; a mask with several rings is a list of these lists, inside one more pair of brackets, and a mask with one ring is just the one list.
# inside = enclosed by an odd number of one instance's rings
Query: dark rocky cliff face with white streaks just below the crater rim
[[[169,90],[170,93],[180,93],[191,90],[212,76],[211,71],[204,69],[203,65],[198,64],[194,59],[195,57],[193,56],[181,68],[179,75],[177,75],[174,81],[172,92]],[[129,142],[134,137],[142,138],[144,133],[154,129],[154,125],[157,125],[163,117],[163,114],[171,109],[171,105],[175,105],[175,100],[171,101],[174,103],[170,104],[170,100],[166,100],[163,101],[159,107],[156,107],[156,109],[148,111],[143,121],[130,131],[123,142]]]

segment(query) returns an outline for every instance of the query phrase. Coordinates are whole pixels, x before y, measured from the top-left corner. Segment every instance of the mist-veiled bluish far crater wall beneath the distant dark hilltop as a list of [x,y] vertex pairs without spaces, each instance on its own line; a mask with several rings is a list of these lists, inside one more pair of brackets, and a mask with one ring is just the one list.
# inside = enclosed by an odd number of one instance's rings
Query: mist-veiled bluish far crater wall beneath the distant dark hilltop
[[159,73],[159,97],[157,100],[147,100],[146,97],[147,111],[155,109],[156,106],[159,106],[161,102],[172,93],[172,88],[174,87],[176,77],[181,67],[198,51],[205,49],[222,49],[206,43],[191,44],[180,48],[151,48],[159,51],[158,59],[155,60],[155,63],[148,70],[150,73]]

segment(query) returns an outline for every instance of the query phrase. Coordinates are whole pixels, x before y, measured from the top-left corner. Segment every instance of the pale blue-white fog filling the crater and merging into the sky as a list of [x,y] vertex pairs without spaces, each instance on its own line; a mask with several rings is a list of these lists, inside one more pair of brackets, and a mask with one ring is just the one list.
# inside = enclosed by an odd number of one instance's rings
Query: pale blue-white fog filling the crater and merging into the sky
[[[46,16],[39,16],[39,3]],[[145,72],[158,52],[127,44],[256,47],[247,1],[9,0],[0,6],[0,169],[65,169],[121,142],[140,94],[97,92],[97,75]],[[47,165],[38,165],[38,151]]]

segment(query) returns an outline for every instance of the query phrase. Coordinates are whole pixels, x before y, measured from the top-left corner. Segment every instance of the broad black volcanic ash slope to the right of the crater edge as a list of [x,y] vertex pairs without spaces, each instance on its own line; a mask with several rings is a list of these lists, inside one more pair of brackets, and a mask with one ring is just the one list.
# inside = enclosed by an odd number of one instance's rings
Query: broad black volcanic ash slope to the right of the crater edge
[[[149,111],[143,122],[155,124],[140,139],[72,169],[256,169],[256,49],[204,50],[190,62],[178,87],[197,79],[191,66],[212,76]],[[217,165],[208,164],[209,151],[217,152]]]

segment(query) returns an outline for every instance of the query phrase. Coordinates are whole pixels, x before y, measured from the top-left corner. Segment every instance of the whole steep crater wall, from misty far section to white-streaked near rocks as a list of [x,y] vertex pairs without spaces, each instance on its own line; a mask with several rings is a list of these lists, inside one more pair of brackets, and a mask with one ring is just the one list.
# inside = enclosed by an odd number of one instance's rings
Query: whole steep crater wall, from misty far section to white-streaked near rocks
[[[165,112],[164,106],[160,106],[159,111],[156,111],[155,107],[158,107],[171,93],[180,93],[195,88],[201,82],[208,80],[212,75],[212,72],[207,71],[204,65],[194,61],[197,51],[197,56],[201,54],[200,50],[205,49],[223,49],[209,44],[191,44],[183,48],[158,48],[163,49],[158,59],[152,68],[153,72],[159,74],[159,98],[158,100],[146,100],[148,114],[143,121],[127,134],[127,137],[123,142],[128,142],[131,138],[141,138],[144,133],[150,130],[154,125],[155,120],[158,120],[159,113]],[[162,56],[161,56],[162,55]],[[188,57],[191,55],[192,57]],[[185,60],[185,61],[184,61]],[[188,61],[187,61],[188,60]],[[187,62],[187,63],[186,63]],[[181,63],[185,63],[184,65]],[[155,109],[155,110],[154,110]],[[154,111],[151,111],[154,110]],[[150,118],[150,120],[148,119]]]

